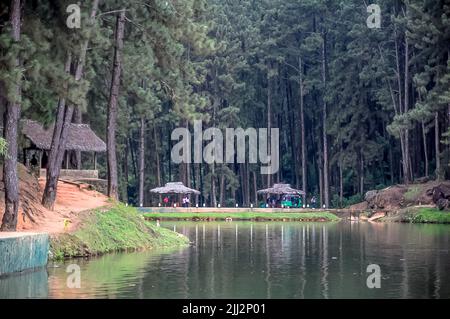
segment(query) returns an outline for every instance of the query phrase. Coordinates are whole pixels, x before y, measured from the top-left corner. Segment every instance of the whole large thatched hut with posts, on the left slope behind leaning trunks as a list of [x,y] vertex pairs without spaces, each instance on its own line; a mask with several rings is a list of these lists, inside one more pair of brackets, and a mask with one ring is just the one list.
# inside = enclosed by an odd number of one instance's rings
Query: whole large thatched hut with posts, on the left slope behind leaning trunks
[[[37,155],[39,168],[46,168],[48,152],[51,148],[53,137],[53,125],[45,129],[41,124],[32,120],[22,120],[22,134],[28,141],[28,146],[24,148],[24,164],[29,166],[30,154]],[[65,168],[69,170],[70,152],[92,152],[94,155],[94,171],[97,170],[97,153],[106,152],[106,144],[100,139],[88,124],[70,124],[69,134],[66,144]],[[81,169],[81,167],[77,167]],[[94,172],[93,171],[93,172]],[[86,171],[87,172],[87,171]]]

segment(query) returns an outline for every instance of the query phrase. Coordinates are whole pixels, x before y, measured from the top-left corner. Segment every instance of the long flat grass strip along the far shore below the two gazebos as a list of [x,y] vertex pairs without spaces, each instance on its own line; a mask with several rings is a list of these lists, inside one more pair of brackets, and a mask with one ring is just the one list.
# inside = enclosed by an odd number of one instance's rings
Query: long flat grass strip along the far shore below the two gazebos
[[339,217],[329,212],[308,213],[145,213],[148,220],[255,220],[255,221],[338,221]]

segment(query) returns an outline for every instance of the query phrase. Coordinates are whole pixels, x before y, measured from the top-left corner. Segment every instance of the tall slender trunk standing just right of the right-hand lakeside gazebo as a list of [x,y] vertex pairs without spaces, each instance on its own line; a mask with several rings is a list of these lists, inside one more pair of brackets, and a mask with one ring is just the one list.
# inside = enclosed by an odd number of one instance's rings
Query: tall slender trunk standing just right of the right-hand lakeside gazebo
[[[323,36],[323,48],[322,48],[322,80],[324,86],[324,95],[327,86],[327,38]],[[323,97],[323,194],[324,205],[326,208],[330,206],[329,198],[329,176],[328,176],[328,137],[327,137],[327,102]]]

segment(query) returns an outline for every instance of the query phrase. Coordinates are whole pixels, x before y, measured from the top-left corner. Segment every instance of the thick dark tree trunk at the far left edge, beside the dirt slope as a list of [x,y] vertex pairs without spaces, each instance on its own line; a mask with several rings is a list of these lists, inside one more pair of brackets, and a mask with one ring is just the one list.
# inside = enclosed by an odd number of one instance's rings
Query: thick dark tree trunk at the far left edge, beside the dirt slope
[[[21,1],[11,1],[11,26],[14,42],[20,41]],[[20,68],[20,59],[14,61],[14,69]],[[20,100],[22,95],[21,77],[14,87],[14,101],[7,101],[4,123],[4,138],[8,149],[3,164],[3,182],[5,185],[5,213],[3,214],[1,231],[16,231],[19,214],[19,179],[17,176],[17,131],[20,118]]]

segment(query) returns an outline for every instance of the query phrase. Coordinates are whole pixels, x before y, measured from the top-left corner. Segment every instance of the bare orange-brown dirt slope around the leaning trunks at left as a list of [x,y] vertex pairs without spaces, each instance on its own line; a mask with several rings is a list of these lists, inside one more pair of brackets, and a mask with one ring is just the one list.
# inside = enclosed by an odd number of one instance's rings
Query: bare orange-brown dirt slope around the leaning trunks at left
[[[111,205],[108,198],[86,187],[60,181],[55,209],[41,205],[45,179],[37,179],[22,164],[18,165],[20,206],[18,231],[58,234],[75,231],[92,209]],[[0,172],[0,180],[1,178]],[[4,213],[4,187],[0,189],[0,220]]]

